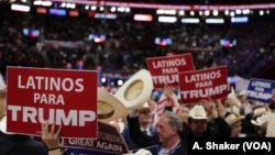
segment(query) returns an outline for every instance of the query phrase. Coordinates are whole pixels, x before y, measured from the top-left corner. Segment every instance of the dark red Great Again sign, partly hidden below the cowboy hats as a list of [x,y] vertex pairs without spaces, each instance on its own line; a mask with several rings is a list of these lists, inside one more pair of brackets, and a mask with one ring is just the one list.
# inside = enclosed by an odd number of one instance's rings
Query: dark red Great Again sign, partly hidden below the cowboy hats
[[64,139],[65,147],[76,147],[85,150],[94,150],[109,153],[128,153],[128,146],[124,139],[118,130],[110,125],[98,121],[98,139]]

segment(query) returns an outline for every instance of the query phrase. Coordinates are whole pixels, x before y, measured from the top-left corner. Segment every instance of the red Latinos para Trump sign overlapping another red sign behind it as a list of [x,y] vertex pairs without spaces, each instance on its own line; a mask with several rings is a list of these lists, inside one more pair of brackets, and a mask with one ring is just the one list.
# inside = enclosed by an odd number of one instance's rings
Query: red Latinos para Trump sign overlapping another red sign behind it
[[202,99],[221,99],[228,96],[226,66],[179,73],[182,103],[200,102]]

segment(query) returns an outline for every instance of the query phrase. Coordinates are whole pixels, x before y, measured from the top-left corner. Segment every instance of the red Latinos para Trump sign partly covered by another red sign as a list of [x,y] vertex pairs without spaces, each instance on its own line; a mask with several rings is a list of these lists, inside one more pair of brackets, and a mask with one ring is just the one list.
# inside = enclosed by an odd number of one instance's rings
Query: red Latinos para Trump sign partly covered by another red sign
[[178,87],[178,73],[194,70],[191,54],[150,57],[146,63],[154,88],[164,88],[166,84]]

